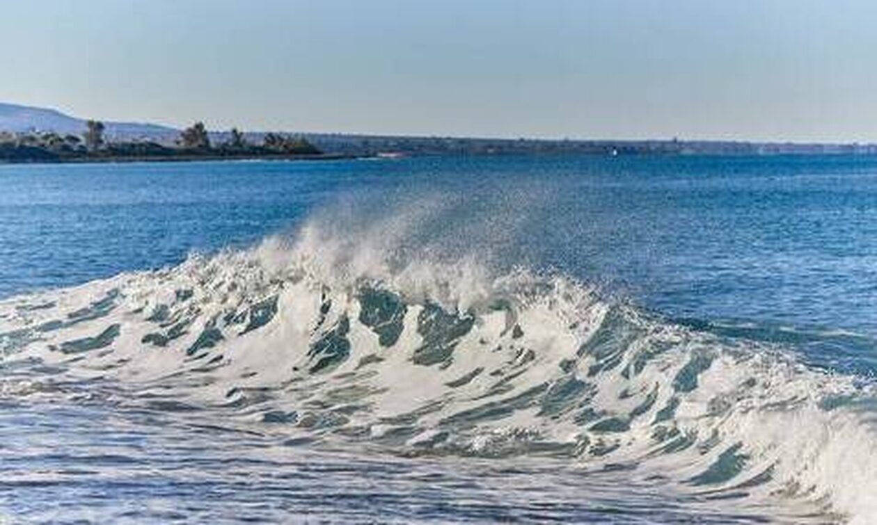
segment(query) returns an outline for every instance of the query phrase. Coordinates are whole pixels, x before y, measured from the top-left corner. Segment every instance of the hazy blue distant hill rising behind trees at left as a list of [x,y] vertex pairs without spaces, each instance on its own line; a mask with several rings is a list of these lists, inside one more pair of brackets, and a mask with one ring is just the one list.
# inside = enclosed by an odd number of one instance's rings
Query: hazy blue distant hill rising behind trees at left
[[[139,124],[133,122],[104,122],[105,134],[109,138],[153,138],[174,137],[177,130],[159,124]],[[54,131],[56,133],[80,134],[85,130],[85,119],[71,117],[58,110],[0,103],[0,131]]]

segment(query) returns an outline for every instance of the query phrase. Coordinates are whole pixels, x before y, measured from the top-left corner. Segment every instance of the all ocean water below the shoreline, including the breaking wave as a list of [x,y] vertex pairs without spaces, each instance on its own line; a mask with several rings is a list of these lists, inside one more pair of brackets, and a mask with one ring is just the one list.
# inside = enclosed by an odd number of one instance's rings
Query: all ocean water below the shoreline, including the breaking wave
[[877,159],[0,167],[0,519],[877,520]]

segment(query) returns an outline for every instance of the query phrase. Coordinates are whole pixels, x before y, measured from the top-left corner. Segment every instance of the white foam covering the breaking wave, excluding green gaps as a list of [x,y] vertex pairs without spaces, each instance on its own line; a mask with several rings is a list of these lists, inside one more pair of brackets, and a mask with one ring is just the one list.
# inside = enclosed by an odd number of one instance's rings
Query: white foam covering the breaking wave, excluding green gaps
[[[562,276],[524,270],[496,276],[475,257],[436,261],[428,252],[399,259],[394,244],[416,223],[417,210],[403,217],[344,235],[310,223],[295,242],[272,238],[248,251],[193,255],[175,268],[14,298],[0,304],[3,330],[31,332],[24,343],[6,343],[6,359],[39,358],[65,366],[69,376],[116,380],[132,393],[129,402],[149,393],[218,407],[246,395],[230,392],[269,392],[266,401],[245,403],[239,412],[225,408],[227,415],[258,422],[269,410],[296,411],[300,418],[290,432],[325,439],[331,438],[328,427],[303,425],[303,415],[343,414],[342,428],[366,428],[375,440],[408,432],[400,446],[489,455],[527,453],[533,443],[569,445],[574,452],[568,453],[588,468],[631,462],[636,475],[660,473],[682,492],[730,491],[770,469],[770,480],[746,489],[749,499],[732,503],[786,498],[862,523],[877,516],[873,415],[849,406],[823,408],[831,396],[872,395],[852,378],[810,370],[781,349],[722,340],[610,305],[591,287]],[[408,305],[403,331],[389,348],[358,320],[364,286],[389,290]],[[71,312],[113,290],[116,307],[106,315],[68,323]],[[254,305],[272,298],[272,319],[242,333]],[[53,306],[19,308],[43,302]],[[452,358],[417,365],[412,357],[424,344],[418,316],[429,303],[474,316],[475,323],[453,341]],[[161,309],[167,309],[165,321],[149,320]],[[228,321],[236,317],[244,321]],[[311,345],[344,318],[350,355],[328,372],[309,372]],[[33,330],[52,321],[68,325]],[[185,333],[168,337],[180,323]],[[103,348],[59,351],[114,324],[120,334]],[[213,325],[224,340],[187,355]],[[594,350],[598,338],[608,348],[628,332],[615,358]],[[168,337],[166,344],[143,342],[154,333]],[[591,346],[580,350],[584,344]],[[193,359],[201,353],[206,357]],[[697,386],[675,387],[695,356],[710,360]],[[381,361],[362,365],[369,357]],[[217,361],[207,366],[211,358]],[[615,365],[605,365],[613,359]],[[474,375],[463,384],[468,374]],[[0,395],[32,393],[33,380],[27,381],[4,382]],[[549,410],[549,396],[571,385],[581,390]],[[655,422],[670,403],[678,403],[674,415]],[[616,428],[598,424],[613,418]],[[692,443],[661,452],[681,437],[661,441],[660,429],[691,436]],[[739,472],[693,483],[732,449],[745,457]]]

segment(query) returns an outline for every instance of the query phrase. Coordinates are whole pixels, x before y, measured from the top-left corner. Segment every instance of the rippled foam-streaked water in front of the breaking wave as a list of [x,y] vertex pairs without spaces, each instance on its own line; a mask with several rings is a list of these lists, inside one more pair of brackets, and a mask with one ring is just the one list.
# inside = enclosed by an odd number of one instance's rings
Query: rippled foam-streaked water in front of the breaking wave
[[[141,415],[142,416],[142,415]],[[760,522],[655,482],[551,458],[398,458],[319,450],[96,407],[4,407],[3,505],[22,521]],[[21,429],[25,428],[24,433]],[[8,429],[17,429],[9,432]],[[621,484],[629,497],[618,500]],[[582,493],[587,486],[587,493]]]

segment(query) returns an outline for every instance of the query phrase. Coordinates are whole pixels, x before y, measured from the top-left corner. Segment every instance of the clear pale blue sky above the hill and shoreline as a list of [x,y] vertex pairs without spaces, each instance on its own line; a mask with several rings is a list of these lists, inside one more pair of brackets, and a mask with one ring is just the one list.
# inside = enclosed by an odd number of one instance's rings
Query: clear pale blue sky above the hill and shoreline
[[0,0],[0,101],[211,128],[877,141],[877,2]]

